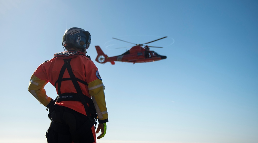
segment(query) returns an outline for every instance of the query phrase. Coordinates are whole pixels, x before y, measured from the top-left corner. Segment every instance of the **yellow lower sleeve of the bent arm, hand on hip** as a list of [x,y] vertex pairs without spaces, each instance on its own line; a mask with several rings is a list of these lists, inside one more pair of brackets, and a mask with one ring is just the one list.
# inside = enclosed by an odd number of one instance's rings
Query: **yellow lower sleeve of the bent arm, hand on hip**
[[46,95],[44,89],[46,84],[47,81],[37,78],[34,74],[30,78],[29,92],[44,106],[47,106],[51,101],[51,97]]

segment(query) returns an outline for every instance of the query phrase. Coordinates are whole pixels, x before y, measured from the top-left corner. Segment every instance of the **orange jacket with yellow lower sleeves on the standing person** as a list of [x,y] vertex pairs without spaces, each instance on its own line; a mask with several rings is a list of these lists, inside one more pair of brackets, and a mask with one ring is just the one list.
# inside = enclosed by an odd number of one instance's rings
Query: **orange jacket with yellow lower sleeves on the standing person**
[[[69,66],[64,66],[66,63]],[[63,71],[63,73],[60,73],[60,71]],[[29,83],[29,92],[46,107],[49,107],[49,104],[53,101],[51,97],[46,95],[44,89],[44,86],[48,82],[55,86],[57,90],[57,99],[59,100],[55,102],[55,106],[68,107],[87,115],[88,112],[85,111],[85,104],[83,105],[79,100],[72,99],[76,97],[78,92],[81,92],[81,95],[92,99],[99,123],[108,122],[104,94],[105,87],[99,75],[98,68],[91,61],[90,57],[85,56],[83,52],[66,51],[56,53],[54,54],[54,58],[39,65],[33,73]],[[61,100],[61,98],[65,100]],[[90,106],[88,103],[87,105]],[[94,127],[92,131],[93,129]]]

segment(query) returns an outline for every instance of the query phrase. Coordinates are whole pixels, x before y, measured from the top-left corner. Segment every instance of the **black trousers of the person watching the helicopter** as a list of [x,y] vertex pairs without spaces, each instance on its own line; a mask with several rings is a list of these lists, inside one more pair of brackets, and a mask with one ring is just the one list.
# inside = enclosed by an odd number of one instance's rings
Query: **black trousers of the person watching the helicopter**
[[50,127],[46,132],[48,143],[93,143],[94,125],[87,116],[70,108],[55,105],[51,114]]

